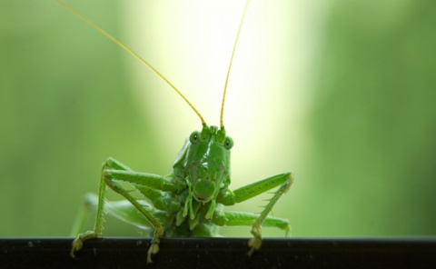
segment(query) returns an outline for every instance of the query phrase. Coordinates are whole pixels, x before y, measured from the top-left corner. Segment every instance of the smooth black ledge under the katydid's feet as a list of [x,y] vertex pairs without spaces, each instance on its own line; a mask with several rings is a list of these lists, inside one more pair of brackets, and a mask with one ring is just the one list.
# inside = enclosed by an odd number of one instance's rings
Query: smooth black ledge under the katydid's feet
[[436,238],[263,239],[247,256],[247,238],[163,238],[146,264],[149,238],[87,241],[74,260],[72,238],[0,238],[0,268],[436,268]]

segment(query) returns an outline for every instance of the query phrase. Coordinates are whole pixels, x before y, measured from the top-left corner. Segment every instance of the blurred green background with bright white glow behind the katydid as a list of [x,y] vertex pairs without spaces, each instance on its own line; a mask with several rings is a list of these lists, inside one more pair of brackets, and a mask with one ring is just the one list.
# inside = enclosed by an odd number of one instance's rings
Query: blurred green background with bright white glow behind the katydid
[[[214,94],[243,3],[162,2],[68,3],[218,125]],[[436,3],[288,2],[253,1],[244,22],[224,112],[233,188],[291,170],[295,183],[273,214],[291,220],[292,236],[435,235]],[[232,15],[213,17],[220,8]],[[192,30],[206,20],[233,30],[207,41],[219,30]],[[208,44],[223,54],[203,52]],[[0,0],[0,236],[67,236],[108,156],[165,174],[200,127],[155,75],[53,1]],[[267,197],[231,210],[259,212]],[[109,217],[105,232],[138,235]]]

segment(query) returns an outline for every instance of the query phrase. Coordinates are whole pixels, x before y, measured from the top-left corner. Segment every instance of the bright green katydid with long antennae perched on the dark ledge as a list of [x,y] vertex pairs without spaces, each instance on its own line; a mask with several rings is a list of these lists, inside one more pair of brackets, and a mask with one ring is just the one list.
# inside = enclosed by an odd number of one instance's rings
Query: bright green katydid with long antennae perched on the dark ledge
[[[289,231],[289,221],[268,215],[272,207],[284,194],[293,182],[290,172],[276,174],[263,180],[245,185],[232,191],[230,174],[230,151],[233,140],[226,135],[223,125],[223,107],[227,83],[233,62],[233,55],[242,29],[243,19],[249,4],[247,1],[238,33],[233,44],[233,52],[227,70],[221,105],[220,127],[206,125],[203,116],[154,67],[148,64],[130,48],[126,47],[102,28],[80,15],[69,5],[54,0],[65,9],[79,17],[85,23],[93,26],[103,35],[120,45],[126,52],[134,55],[139,61],[150,68],[156,75],[169,85],[173,91],[180,95],[194,113],[199,116],[202,131],[194,131],[186,140],[182,150],[177,154],[170,174],[165,176],[134,172],[126,165],[109,158],[103,165],[98,195],[89,194],[85,204],[89,208],[96,207],[94,230],[78,234],[71,250],[75,257],[86,240],[99,237],[103,234],[104,212],[138,227],[144,228],[153,234],[152,244],[148,250],[147,263],[152,263],[152,255],[159,252],[159,242],[163,236],[172,237],[213,237],[217,236],[219,226],[223,225],[251,225],[253,238],[248,242],[251,256],[260,249],[262,244],[261,226],[276,227]],[[129,184],[139,193],[139,198],[125,189],[121,184]],[[105,201],[106,186],[115,193],[124,196],[125,200],[119,202]],[[233,205],[248,200],[258,194],[263,194],[272,188],[278,187],[268,200],[261,214],[244,212],[224,212],[223,206]],[[138,212],[140,214],[138,214]],[[78,219],[84,221],[84,217]],[[74,224],[74,230],[80,229],[81,224]]]

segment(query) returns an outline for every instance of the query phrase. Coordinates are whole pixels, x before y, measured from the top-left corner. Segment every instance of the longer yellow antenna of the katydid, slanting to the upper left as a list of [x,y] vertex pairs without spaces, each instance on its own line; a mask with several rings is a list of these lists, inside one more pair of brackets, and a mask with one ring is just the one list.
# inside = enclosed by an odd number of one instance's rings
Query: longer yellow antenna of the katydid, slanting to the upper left
[[180,95],[180,97],[182,97],[182,99],[184,100],[184,102],[186,102],[186,104],[188,104],[192,109],[193,112],[195,112],[196,115],[198,115],[198,117],[200,118],[200,120],[202,121],[202,125],[206,125],[206,122],[203,119],[203,116],[200,114],[200,112],[198,112],[198,110],[193,106],[193,104],[191,104],[191,102],[189,102],[189,100],[184,97],[184,95],[182,94],[182,92],[180,92],[168,79],[166,79],[162,74],[160,74],[156,69],[154,69],[153,65],[148,64],[147,61],[145,61],[140,55],[137,55],[136,53],[134,53],[134,51],[132,49],[130,49],[129,47],[127,47],[126,45],[124,45],[123,43],[121,43],[121,41],[119,41],[118,39],[116,39],[114,36],[109,35],[106,31],[104,31],[102,28],[100,28],[98,25],[95,25],[92,21],[90,21],[88,18],[86,18],[84,15],[81,15],[80,13],[78,13],[77,11],[75,11],[73,9],[73,7],[64,4],[62,1],[60,0],[54,0],[54,2],[56,2],[57,4],[61,5],[62,7],[64,7],[64,9],[68,10],[69,12],[71,12],[73,15],[77,16],[79,19],[81,19],[82,21],[84,21],[86,24],[93,26],[93,28],[97,31],[99,31],[100,33],[102,33],[104,36],[106,36],[107,38],[109,38],[110,40],[112,40],[116,45],[121,46],[126,52],[128,52],[130,55],[133,55],[136,59],[138,59],[141,63],[143,63],[144,65],[146,65],[150,70],[152,70],[154,72],[154,74],[158,75],[160,78],[163,79],[163,81],[167,84],[170,85],[170,87],[173,88],[173,90],[175,91],[175,93],[177,93],[177,95]]

